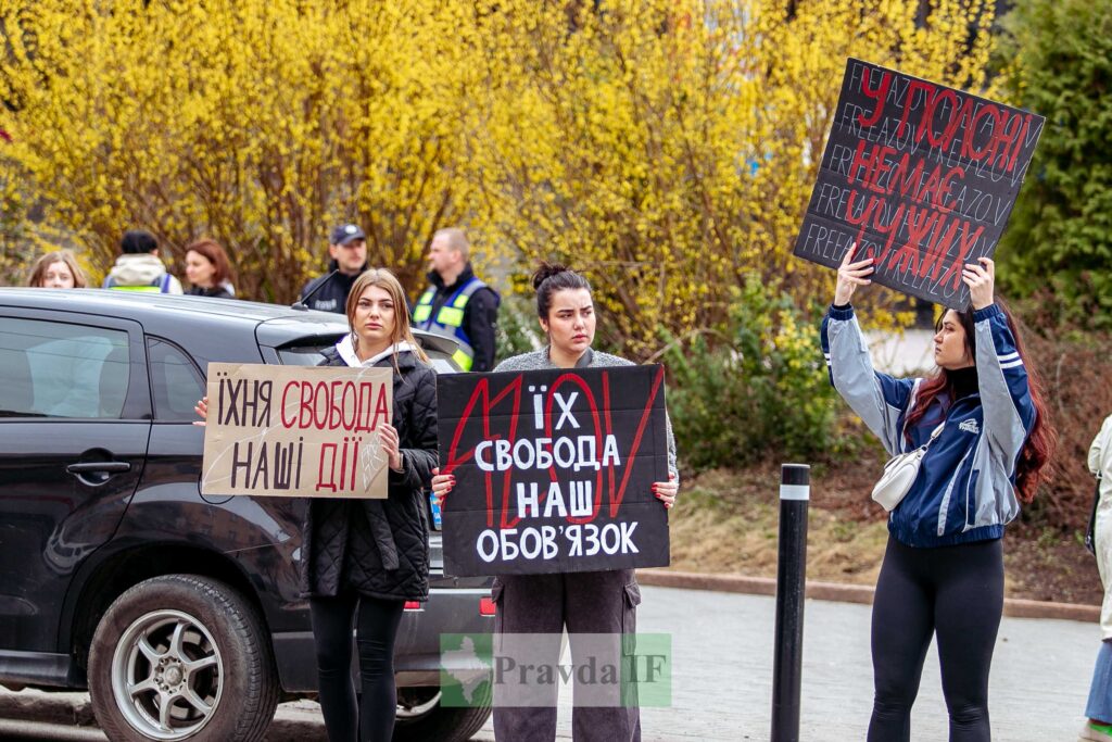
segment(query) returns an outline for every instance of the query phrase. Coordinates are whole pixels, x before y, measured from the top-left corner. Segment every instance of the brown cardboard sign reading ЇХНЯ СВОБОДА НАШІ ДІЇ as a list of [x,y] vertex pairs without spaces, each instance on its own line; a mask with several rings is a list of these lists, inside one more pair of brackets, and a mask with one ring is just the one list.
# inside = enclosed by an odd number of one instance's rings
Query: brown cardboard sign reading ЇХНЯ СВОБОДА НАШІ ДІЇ
[[386,497],[389,368],[209,364],[201,494]]

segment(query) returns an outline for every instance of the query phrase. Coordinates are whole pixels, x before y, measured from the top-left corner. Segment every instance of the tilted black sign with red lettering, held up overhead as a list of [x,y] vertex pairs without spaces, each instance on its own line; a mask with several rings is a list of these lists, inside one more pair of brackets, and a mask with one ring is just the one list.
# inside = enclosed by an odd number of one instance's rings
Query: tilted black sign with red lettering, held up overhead
[[795,255],[953,309],[962,266],[992,257],[1044,119],[850,59]]

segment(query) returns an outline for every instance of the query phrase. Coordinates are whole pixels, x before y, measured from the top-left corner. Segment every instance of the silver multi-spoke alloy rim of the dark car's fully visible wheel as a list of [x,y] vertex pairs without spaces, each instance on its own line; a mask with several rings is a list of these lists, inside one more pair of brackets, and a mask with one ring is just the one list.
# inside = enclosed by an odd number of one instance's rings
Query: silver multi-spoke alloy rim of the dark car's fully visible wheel
[[181,611],[147,613],[112,653],[112,695],[125,720],[152,740],[183,740],[216,713],[224,657],[209,630]]

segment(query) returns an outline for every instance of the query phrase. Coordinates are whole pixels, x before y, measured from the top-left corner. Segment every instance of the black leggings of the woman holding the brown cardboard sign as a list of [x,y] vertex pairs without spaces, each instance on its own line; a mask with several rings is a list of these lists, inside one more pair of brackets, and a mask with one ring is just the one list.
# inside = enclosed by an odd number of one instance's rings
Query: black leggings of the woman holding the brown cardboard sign
[[[358,708],[351,682],[351,624],[356,606],[363,682]],[[398,703],[394,687],[394,640],[404,607],[403,601],[381,601],[351,592],[309,600],[320,711],[329,742],[389,742],[394,734]]]

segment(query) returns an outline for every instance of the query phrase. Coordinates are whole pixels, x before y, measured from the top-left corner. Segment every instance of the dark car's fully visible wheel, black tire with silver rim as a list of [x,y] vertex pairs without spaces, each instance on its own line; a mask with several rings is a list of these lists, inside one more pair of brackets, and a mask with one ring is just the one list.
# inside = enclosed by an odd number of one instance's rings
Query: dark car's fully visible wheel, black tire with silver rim
[[279,687],[255,609],[227,583],[172,574],[135,585],[105,613],[89,692],[113,741],[256,742]]

